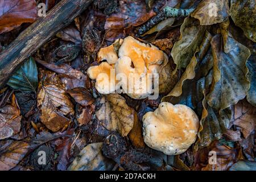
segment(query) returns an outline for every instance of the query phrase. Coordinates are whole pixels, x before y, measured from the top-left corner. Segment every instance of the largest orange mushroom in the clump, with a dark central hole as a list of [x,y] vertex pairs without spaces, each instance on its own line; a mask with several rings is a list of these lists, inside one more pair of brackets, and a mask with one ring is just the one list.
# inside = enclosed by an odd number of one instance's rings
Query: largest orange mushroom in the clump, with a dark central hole
[[164,66],[168,62],[167,55],[151,44],[141,43],[128,36],[123,40],[118,56],[115,74],[123,74],[127,78],[120,81],[125,93],[135,99],[150,96],[152,78],[148,73],[159,73],[160,65]]

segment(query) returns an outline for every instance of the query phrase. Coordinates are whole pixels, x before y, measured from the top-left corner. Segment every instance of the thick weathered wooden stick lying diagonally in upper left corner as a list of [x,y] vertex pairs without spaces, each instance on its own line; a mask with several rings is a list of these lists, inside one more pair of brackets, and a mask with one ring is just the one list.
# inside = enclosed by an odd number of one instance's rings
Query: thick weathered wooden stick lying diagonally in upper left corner
[[71,23],[91,2],[92,0],[62,0],[46,17],[36,20],[4,49],[0,54],[0,89],[27,57]]

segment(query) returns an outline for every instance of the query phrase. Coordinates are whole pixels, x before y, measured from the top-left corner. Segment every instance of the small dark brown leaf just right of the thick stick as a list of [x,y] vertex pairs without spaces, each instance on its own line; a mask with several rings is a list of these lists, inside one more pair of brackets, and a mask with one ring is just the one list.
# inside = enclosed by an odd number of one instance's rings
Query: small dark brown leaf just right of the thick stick
[[59,32],[57,32],[56,36],[65,41],[73,42],[76,45],[81,45],[82,43],[80,32],[73,26],[68,26],[66,28],[63,28],[63,30],[60,30]]

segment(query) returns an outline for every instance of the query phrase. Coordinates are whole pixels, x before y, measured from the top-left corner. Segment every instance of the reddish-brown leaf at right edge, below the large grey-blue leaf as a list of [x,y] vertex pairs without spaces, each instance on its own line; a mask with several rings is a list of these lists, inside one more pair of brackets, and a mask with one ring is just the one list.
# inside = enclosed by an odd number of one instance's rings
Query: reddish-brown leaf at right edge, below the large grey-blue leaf
[[246,100],[234,105],[232,122],[234,125],[241,127],[243,137],[247,138],[254,131],[256,122],[256,109]]

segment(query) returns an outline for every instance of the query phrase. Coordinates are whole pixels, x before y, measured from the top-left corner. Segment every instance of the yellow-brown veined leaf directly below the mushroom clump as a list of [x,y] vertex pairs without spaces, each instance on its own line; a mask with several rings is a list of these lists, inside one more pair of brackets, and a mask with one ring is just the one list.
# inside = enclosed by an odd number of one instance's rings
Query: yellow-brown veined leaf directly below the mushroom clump
[[96,116],[102,125],[110,131],[118,131],[122,137],[127,136],[133,129],[135,110],[129,107],[125,98],[119,94],[109,94],[99,98]]

